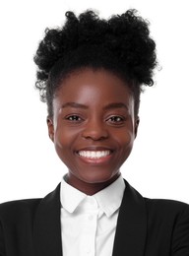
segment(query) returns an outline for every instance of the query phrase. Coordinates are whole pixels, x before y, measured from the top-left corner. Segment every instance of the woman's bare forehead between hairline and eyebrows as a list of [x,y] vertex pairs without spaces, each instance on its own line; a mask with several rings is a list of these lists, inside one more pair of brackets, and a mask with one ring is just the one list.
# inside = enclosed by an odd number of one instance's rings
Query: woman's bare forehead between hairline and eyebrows
[[71,73],[60,84],[55,104],[67,101],[88,105],[111,102],[129,103],[133,99],[128,84],[104,69],[83,69]]

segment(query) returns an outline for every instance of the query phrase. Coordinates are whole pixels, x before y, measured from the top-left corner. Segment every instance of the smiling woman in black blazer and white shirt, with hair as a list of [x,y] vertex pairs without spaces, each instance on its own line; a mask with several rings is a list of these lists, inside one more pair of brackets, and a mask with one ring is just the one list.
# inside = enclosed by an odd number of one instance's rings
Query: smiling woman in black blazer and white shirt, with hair
[[121,175],[153,86],[156,43],[128,10],[108,20],[66,13],[34,62],[47,127],[68,168],[45,198],[0,205],[0,256],[189,255],[189,206],[143,197]]

